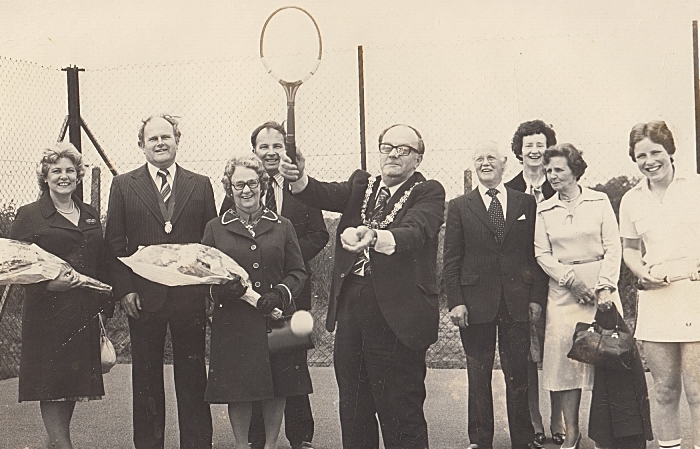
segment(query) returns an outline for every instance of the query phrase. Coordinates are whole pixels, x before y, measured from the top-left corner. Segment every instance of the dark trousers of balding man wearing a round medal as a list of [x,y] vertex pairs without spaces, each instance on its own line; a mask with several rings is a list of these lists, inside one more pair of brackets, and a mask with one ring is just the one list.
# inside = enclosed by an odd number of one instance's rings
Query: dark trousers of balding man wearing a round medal
[[155,313],[141,311],[140,315],[136,320],[129,318],[134,446],[136,449],[160,449],[165,443],[163,352],[169,326],[180,428],[179,447],[211,448],[211,412],[209,404],[204,402],[207,386],[204,311],[178,316],[172,305],[166,302],[161,310]]

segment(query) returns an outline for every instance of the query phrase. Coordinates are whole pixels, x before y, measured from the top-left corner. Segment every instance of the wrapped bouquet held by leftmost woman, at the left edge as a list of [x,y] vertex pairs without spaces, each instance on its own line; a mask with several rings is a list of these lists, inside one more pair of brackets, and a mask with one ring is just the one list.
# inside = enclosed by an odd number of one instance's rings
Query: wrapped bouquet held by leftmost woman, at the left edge
[[[56,279],[70,266],[34,243],[0,238],[0,285],[36,284]],[[84,288],[111,293],[112,287],[78,273]]]

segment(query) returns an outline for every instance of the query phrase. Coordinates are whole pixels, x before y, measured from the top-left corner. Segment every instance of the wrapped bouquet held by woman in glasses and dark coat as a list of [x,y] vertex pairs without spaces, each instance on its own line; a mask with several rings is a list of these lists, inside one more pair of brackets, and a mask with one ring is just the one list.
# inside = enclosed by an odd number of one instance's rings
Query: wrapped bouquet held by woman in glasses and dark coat
[[139,276],[169,287],[225,284],[237,274],[248,287],[241,299],[255,307],[260,298],[260,294],[250,288],[250,277],[243,267],[218,249],[200,243],[142,246],[131,256],[119,260]]

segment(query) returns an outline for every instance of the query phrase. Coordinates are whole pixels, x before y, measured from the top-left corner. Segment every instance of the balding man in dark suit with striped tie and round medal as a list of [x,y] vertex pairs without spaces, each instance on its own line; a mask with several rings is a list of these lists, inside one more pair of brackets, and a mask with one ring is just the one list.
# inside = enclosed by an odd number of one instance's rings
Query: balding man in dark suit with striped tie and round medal
[[[112,181],[106,239],[119,257],[139,246],[199,243],[216,217],[209,178],[175,164],[180,132],[169,115],[143,121],[139,146],[147,163]],[[211,448],[212,423],[204,402],[205,304],[197,287],[166,287],[118,262],[114,291],[129,319],[134,446],[162,448],[165,430],[163,352],[168,327],[173,347],[180,448]]]

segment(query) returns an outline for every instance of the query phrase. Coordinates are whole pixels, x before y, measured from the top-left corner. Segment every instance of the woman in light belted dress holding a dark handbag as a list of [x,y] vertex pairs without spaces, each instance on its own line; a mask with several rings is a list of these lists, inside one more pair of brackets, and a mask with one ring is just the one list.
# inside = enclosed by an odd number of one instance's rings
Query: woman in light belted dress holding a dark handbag
[[581,152],[571,144],[555,145],[544,152],[544,164],[557,193],[539,203],[535,226],[535,256],[550,277],[542,388],[564,412],[562,448],[576,448],[581,391],[592,389],[594,367],[566,354],[576,323],[590,323],[596,305],[608,310],[615,303],[622,310],[617,294],[622,249],[607,195],[578,184],[587,167]]

